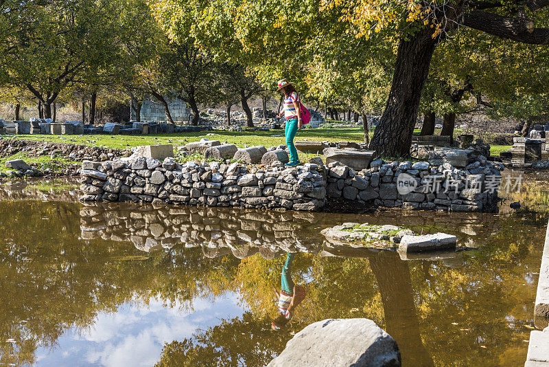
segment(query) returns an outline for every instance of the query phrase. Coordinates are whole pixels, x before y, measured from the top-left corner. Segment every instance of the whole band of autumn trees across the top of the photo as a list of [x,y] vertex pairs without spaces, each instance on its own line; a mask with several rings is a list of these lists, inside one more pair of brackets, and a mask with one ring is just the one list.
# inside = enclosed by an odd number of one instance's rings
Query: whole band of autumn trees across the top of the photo
[[[549,104],[547,0],[41,0],[0,1],[0,87],[19,105],[154,96],[193,111],[273,96],[296,82],[309,105],[382,115],[371,148],[408,155],[417,116],[432,134],[443,115],[490,107],[495,117],[543,120]],[[541,45],[541,46],[540,46]],[[118,97],[119,98],[119,97]],[[124,97],[125,98],[125,97]],[[334,117],[337,117],[334,115]],[[526,128],[527,129],[527,128]]]

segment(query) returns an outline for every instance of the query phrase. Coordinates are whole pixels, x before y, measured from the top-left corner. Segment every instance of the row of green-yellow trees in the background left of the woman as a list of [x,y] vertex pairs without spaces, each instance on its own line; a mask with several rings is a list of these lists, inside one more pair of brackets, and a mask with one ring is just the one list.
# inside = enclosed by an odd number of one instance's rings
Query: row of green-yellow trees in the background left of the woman
[[[189,23],[190,25],[191,23]],[[139,119],[154,97],[173,122],[169,98],[180,98],[198,123],[198,105],[241,103],[248,124],[252,96],[270,97],[240,60],[215,57],[181,25],[170,39],[144,0],[0,1],[0,96],[16,106],[38,103],[55,118],[56,102],[86,102],[93,122],[97,96],[127,101]]]

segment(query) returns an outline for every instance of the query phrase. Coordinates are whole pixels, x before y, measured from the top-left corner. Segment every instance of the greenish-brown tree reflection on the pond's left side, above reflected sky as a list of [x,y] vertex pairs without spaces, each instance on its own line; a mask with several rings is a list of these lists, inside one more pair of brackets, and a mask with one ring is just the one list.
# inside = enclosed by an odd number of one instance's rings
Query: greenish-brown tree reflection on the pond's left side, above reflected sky
[[[150,254],[132,245],[79,241],[79,206],[15,201],[0,205],[0,362],[34,362],[38,346],[93,324],[97,313],[130,300],[189,304],[229,288],[236,258],[198,251]],[[225,283],[224,283],[225,282]]]

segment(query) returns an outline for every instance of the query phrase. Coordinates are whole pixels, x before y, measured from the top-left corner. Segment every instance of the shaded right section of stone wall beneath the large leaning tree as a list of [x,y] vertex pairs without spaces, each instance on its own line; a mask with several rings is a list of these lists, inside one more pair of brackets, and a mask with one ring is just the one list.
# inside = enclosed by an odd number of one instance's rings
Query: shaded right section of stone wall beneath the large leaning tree
[[[500,164],[492,164],[483,156],[453,160],[440,157],[439,162],[433,163],[377,159],[371,168],[360,172],[337,163],[329,164],[327,197],[385,208],[454,212],[493,208],[503,169]],[[410,189],[413,190],[406,190],[406,183],[412,183],[414,187]]]

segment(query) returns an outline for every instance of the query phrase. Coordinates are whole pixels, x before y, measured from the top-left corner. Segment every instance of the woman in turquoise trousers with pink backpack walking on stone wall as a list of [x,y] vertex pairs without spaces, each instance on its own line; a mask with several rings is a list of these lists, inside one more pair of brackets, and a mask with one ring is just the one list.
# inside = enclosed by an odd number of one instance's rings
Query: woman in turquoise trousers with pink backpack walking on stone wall
[[294,137],[296,137],[297,129],[301,129],[302,127],[299,96],[291,82],[282,79],[279,80],[278,85],[279,89],[277,89],[277,91],[282,90],[284,93],[284,109],[277,116],[281,117],[281,115],[284,114],[284,118],[286,119],[286,145],[290,149],[290,162],[288,162],[286,166],[297,166],[301,163],[299,162],[297,149],[294,145]]

